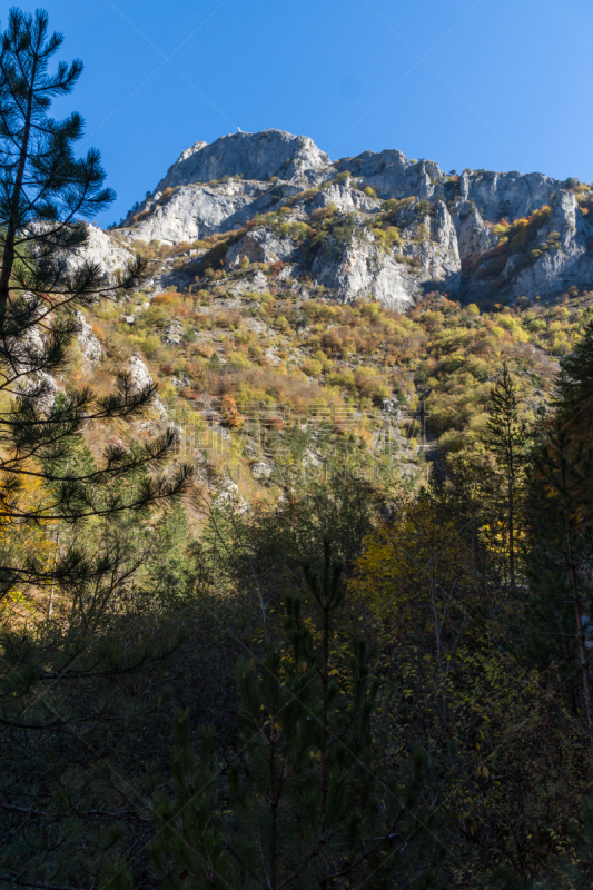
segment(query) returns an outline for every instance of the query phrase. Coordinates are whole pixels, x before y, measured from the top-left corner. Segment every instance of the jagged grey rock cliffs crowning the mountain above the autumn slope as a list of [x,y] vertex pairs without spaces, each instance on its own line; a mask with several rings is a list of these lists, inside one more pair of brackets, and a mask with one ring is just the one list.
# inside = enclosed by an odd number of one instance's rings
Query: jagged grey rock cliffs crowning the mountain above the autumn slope
[[228,234],[216,251],[199,247],[198,271],[233,278],[249,264],[284,264],[285,285],[343,300],[405,308],[441,290],[513,301],[592,286],[590,204],[576,180],[449,175],[392,149],[332,162],[306,137],[266,130],[188,148],[120,235],[179,244]]

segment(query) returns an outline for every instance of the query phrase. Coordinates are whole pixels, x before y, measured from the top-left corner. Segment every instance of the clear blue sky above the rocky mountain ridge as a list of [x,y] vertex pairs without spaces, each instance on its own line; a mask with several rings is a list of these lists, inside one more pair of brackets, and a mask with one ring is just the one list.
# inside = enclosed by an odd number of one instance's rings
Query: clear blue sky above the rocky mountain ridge
[[154,189],[187,146],[237,127],[310,136],[333,159],[398,148],[446,170],[593,180],[591,0],[43,7],[66,36],[61,58],[85,61],[56,115],[79,110],[87,145],[102,152],[118,200],[101,225]]

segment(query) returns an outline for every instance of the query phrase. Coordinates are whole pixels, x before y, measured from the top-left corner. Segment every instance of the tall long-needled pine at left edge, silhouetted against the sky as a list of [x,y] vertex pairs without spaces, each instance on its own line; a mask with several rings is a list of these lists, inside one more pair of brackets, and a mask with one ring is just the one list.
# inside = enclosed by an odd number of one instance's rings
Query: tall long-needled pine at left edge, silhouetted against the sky
[[[12,9],[0,48],[0,517],[21,527],[140,510],[180,491],[189,473],[151,472],[141,482],[137,475],[142,467],[156,471],[171,454],[172,427],[140,449],[107,447],[90,473],[68,466],[69,443],[83,428],[141,414],[156,387],[137,388],[122,373],[109,396],[83,386],[53,398],[51,375],[66,367],[79,309],[137,286],[144,268],[139,258],[130,261],[113,284],[80,256],[89,237],[83,219],[115,196],[103,186],[99,152],[75,156],[83,132],[80,115],[49,117],[52,100],[68,96],[82,71],[75,60],[50,72],[61,43],[61,34],[48,32],[46,12]],[[128,473],[140,484],[123,497],[117,482]],[[51,486],[52,496],[24,505],[21,494],[31,476]],[[2,547],[0,599],[16,584],[50,583],[51,571],[23,565]],[[71,560],[58,571],[67,580]],[[80,577],[80,565],[77,571]]]

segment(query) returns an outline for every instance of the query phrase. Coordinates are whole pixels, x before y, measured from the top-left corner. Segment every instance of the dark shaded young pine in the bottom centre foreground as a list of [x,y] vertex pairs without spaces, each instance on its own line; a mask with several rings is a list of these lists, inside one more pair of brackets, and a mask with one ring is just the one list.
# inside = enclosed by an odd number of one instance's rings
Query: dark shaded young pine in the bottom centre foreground
[[[305,567],[316,612],[287,601],[285,643],[237,669],[241,750],[220,777],[211,735],[195,754],[187,713],[176,718],[176,794],[157,803],[150,848],[160,886],[329,890],[434,884],[443,851],[422,789],[423,751],[398,770],[374,758],[376,684],[366,647],[336,646],[342,566],[326,546],[320,573]],[[288,645],[286,645],[288,643]],[[338,678],[336,680],[336,678]],[[445,887],[441,876],[438,887]]]

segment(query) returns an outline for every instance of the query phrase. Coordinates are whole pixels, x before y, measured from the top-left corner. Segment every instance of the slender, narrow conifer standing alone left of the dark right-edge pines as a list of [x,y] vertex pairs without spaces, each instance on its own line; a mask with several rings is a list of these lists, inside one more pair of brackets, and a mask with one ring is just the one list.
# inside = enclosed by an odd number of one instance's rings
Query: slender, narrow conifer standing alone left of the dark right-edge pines
[[520,496],[526,461],[527,431],[518,417],[516,389],[506,363],[496,386],[491,390],[486,446],[494,455],[504,477],[506,532],[508,535],[508,575],[511,589],[516,585],[516,531]]

